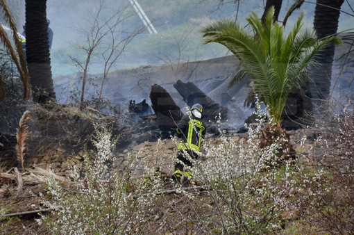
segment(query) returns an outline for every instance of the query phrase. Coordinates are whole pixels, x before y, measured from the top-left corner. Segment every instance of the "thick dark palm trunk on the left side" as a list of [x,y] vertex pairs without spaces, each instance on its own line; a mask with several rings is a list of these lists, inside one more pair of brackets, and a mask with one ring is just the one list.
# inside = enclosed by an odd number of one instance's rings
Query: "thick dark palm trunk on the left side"
[[26,57],[33,101],[55,101],[49,52],[47,0],[26,0]]

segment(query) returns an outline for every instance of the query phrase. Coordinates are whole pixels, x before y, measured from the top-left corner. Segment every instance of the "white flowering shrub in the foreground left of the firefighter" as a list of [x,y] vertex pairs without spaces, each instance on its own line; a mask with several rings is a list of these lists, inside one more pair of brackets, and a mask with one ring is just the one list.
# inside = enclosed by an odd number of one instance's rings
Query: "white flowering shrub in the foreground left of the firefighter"
[[47,181],[51,198],[45,205],[55,216],[42,216],[39,222],[53,234],[139,233],[151,216],[159,177],[149,170],[145,177],[135,178],[129,168],[124,172],[111,169],[117,140],[109,128],[95,128],[96,152],[87,152],[81,167],[74,165],[72,184]]

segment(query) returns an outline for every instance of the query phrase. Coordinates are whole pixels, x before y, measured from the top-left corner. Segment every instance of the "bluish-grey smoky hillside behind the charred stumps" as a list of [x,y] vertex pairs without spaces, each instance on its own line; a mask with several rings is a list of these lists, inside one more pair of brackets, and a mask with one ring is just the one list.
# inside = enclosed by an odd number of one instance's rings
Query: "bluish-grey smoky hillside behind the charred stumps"
[[[337,47],[332,67],[332,102],[343,104],[346,102],[346,99],[351,99],[351,94],[353,94],[354,59],[353,53],[347,54],[351,50],[350,43],[351,40],[348,40],[342,46]],[[103,94],[110,102],[126,110],[130,100],[135,100],[139,103],[146,99],[146,102],[151,104],[149,99],[151,86],[158,84],[169,92],[174,102],[184,112],[187,104],[183,101],[180,94],[178,94],[176,88],[174,88],[176,81],[192,82],[205,92],[206,95],[211,95],[215,102],[220,102],[220,96],[218,97],[212,91],[235,73],[236,66],[237,60],[235,56],[224,56],[189,63],[142,66],[130,70],[117,70],[108,74],[108,81],[104,86]],[[54,78],[56,91],[61,95],[61,102],[65,102],[69,97],[67,87],[77,84],[77,80],[80,77],[81,74],[76,73]],[[91,77],[99,81],[102,75],[91,74]],[[252,111],[244,107],[244,100],[250,89],[248,83],[242,84],[237,92],[232,93],[232,99],[223,104],[232,111],[230,112],[230,116],[225,118],[235,128],[242,127],[244,120],[251,115]],[[91,90],[87,94],[87,97],[94,96],[94,88],[91,87]],[[339,111],[338,108],[340,107],[334,105],[333,108],[335,111]]]

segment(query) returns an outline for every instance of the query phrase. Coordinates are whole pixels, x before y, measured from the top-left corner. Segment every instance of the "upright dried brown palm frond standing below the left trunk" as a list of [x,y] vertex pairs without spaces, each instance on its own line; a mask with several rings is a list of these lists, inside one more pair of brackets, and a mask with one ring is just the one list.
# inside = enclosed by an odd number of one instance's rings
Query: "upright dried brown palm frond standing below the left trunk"
[[22,170],[24,170],[24,154],[26,151],[26,138],[28,136],[28,125],[26,122],[31,119],[31,112],[26,111],[19,120],[19,129],[16,134],[16,155],[17,160],[21,163]]

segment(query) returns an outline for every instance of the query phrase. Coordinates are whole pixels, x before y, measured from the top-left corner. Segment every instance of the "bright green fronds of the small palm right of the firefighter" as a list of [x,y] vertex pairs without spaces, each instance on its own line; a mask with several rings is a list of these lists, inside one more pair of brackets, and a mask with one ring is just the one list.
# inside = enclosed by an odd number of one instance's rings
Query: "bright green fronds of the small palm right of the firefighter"
[[242,70],[251,77],[254,92],[267,106],[273,123],[280,127],[287,97],[305,81],[314,54],[330,42],[338,44],[340,40],[330,37],[319,41],[314,31],[301,32],[303,14],[287,37],[283,26],[273,19],[273,7],[263,23],[255,13],[247,17],[254,35],[233,20],[221,20],[206,26],[203,38],[205,43],[218,42],[235,54]]

